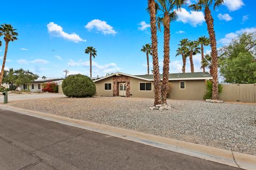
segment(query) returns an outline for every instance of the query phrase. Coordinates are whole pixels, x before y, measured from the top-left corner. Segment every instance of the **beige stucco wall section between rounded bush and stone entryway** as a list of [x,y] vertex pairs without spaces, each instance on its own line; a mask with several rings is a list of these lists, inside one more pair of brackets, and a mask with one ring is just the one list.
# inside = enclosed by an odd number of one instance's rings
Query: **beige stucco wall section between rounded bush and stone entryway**
[[[113,77],[109,77],[97,82],[94,82],[96,86],[96,94],[95,96],[113,96]],[[111,90],[104,90],[105,83],[111,83],[112,88]]]

